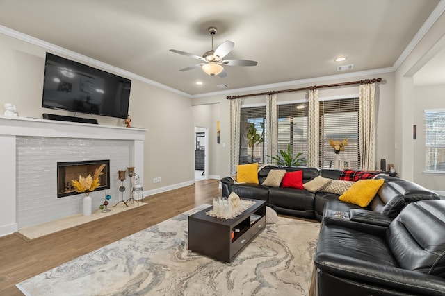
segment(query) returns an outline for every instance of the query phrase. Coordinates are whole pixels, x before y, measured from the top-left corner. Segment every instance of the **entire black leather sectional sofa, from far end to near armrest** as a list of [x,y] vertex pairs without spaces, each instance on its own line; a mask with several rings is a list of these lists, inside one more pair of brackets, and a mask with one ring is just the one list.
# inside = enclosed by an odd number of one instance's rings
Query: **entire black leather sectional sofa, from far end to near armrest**
[[[445,200],[419,184],[397,177],[382,179],[370,204],[359,207],[323,191],[261,185],[268,172],[259,171],[259,184],[222,182],[223,195],[266,200],[278,213],[321,220],[314,254],[313,292],[331,295],[444,295]],[[303,171],[303,182],[321,175],[339,180],[342,171],[286,168]]]

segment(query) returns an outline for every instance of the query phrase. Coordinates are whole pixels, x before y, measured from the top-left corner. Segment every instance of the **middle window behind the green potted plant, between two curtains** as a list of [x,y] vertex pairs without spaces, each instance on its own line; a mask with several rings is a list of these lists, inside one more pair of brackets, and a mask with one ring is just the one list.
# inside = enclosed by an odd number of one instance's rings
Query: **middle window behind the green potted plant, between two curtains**
[[301,152],[301,157],[307,160],[308,112],[307,103],[277,105],[278,152],[287,151],[287,144],[291,143],[294,157]]

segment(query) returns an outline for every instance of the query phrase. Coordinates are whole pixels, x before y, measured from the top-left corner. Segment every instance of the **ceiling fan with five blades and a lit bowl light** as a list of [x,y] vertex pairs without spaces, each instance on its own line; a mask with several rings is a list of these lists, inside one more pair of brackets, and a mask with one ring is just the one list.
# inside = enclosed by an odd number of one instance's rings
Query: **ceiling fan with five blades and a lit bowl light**
[[215,27],[209,27],[209,33],[211,35],[211,51],[207,51],[200,57],[199,55],[194,55],[193,53],[186,53],[185,51],[177,51],[176,49],[170,49],[173,53],[179,53],[180,55],[186,55],[191,58],[195,58],[197,60],[202,61],[200,64],[195,64],[191,67],[186,67],[184,69],[180,69],[179,71],[188,71],[195,68],[202,68],[202,71],[205,73],[215,76],[218,75],[220,77],[227,76],[227,73],[224,71],[225,66],[256,66],[258,63],[253,60],[223,60],[223,58],[232,51],[235,44],[232,41],[226,40],[218,46],[215,50],[213,50],[213,36],[216,34],[218,30]]

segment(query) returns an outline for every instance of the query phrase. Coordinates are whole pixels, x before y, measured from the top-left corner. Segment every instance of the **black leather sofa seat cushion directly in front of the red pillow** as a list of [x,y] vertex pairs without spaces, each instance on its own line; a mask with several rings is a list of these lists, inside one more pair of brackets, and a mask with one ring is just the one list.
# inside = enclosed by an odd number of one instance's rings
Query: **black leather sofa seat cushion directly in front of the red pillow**
[[314,193],[305,189],[270,188],[269,204],[285,209],[314,210]]

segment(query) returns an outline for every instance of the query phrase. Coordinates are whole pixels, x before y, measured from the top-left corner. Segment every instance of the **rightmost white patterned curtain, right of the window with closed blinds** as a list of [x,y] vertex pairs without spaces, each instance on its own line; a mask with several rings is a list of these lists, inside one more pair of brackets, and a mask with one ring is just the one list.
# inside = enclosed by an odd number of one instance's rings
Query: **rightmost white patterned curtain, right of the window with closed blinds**
[[362,170],[373,171],[375,169],[375,83],[361,84],[359,94],[360,168]]

